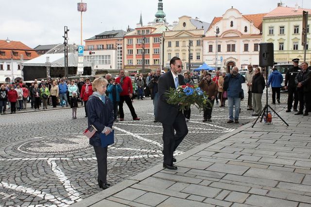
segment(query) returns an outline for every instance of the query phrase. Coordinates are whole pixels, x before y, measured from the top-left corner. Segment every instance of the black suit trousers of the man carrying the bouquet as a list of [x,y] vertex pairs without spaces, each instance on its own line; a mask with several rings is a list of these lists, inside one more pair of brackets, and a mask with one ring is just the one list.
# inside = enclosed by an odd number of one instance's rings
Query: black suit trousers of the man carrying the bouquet
[[[159,112],[161,113],[161,112]],[[173,165],[173,153],[188,134],[188,127],[185,117],[178,112],[173,124],[162,124],[163,126],[163,162],[167,165]],[[176,134],[174,134],[174,130]]]

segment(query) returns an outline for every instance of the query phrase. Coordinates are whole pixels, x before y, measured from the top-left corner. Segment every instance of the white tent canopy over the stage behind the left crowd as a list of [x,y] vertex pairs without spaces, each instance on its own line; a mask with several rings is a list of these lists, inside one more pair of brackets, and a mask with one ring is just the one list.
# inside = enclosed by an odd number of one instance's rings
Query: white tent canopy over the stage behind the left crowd
[[[64,53],[55,54],[43,54],[32,60],[25,62],[24,66],[46,66],[47,57],[49,57],[51,67],[65,67]],[[83,61],[84,67],[91,67],[92,64],[89,61]],[[74,53],[68,53],[68,67],[78,67],[78,55]]]

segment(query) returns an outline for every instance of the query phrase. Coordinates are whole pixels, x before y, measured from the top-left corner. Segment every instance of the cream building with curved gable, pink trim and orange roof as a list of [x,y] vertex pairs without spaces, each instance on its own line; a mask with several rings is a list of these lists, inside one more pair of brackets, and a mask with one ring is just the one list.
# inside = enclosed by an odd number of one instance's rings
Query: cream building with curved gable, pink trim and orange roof
[[[242,15],[237,9],[228,9],[222,17],[214,17],[203,38],[204,62],[229,71],[233,66],[246,68],[259,65],[262,17],[266,14]],[[216,46],[216,29],[219,28]]]

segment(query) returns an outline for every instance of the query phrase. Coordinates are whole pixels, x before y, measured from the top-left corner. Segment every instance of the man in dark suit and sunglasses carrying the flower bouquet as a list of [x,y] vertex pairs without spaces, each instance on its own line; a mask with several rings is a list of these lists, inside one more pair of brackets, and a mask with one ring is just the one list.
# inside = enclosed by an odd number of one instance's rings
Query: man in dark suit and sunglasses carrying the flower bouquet
[[[185,85],[184,77],[181,75],[182,62],[180,58],[173,57],[170,61],[171,70],[161,75],[158,82],[158,113],[155,120],[162,123],[163,126],[163,167],[170,170],[177,170],[173,165],[176,159],[173,153],[188,134],[188,127],[182,111],[178,104],[168,104],[165,92],[170,88],[177,88]],[[174,130],[176,133],[174,134]]]

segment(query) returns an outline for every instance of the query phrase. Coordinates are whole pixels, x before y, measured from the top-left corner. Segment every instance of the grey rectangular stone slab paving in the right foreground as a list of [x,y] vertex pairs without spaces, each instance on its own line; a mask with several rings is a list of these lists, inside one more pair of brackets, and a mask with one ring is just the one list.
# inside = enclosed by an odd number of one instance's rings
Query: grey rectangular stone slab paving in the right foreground
[[311,207],[311,117],[246,124],[73,206]]

